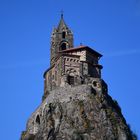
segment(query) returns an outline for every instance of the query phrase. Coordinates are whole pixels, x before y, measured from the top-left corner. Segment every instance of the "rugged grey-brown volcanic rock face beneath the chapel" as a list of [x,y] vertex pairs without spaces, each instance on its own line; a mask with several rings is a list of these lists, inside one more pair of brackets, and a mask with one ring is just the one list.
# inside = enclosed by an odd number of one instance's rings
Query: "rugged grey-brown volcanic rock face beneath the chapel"
[[[38,119],[37,119],[38,118]],[[117,102],[91,85],[51,91],[21,140],[133,140]]]

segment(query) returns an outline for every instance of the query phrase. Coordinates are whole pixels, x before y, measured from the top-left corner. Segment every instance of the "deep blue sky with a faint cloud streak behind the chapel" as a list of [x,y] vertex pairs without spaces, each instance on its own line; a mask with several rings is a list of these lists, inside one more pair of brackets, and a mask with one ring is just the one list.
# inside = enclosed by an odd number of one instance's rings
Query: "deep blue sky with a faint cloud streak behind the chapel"
[[140,139],[140,0],[0,0],[1,140],[18,140],[41,103],[62,10],[74,45],[103,54],[102,78]]

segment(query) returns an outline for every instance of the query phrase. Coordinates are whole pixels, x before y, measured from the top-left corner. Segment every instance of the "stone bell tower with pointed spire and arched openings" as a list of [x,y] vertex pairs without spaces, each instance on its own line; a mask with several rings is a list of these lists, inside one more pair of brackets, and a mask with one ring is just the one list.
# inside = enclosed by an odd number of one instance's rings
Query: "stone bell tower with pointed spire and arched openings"
[[54,28],[51,35],[51,66],[54,64],[58,53],[73,48],[73,33],[66,25],[63,14],[57,28]]

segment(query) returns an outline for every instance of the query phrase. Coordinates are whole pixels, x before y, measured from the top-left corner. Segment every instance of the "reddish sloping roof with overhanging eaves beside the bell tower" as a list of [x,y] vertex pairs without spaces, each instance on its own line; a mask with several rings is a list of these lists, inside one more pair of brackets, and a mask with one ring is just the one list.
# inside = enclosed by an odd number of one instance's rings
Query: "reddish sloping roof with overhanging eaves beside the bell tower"
[[90,48],[88,46],[79,46],[79,47],[76,47],[76,48],[70,48],[70,49],[67,49],[67,50],[60,51],[59,53],[73,52],[73,51],[78,51],[78,50],[88,50],[91,53],[97,55],[98,57],[102,57],[102,54],[98,53],[97,51],[93,50],[92,48]]

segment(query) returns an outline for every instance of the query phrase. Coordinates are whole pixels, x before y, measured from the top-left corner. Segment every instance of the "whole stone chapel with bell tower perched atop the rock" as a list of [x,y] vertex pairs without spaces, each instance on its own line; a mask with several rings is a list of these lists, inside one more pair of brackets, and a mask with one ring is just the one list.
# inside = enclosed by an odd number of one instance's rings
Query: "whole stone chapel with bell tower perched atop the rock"
[[88,46],[74,47],[73,33],[63,15],[51,35],[50,68],[44,73],[44,98],[58,87],[76,86],[101,78],[100,53]]

